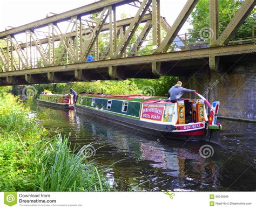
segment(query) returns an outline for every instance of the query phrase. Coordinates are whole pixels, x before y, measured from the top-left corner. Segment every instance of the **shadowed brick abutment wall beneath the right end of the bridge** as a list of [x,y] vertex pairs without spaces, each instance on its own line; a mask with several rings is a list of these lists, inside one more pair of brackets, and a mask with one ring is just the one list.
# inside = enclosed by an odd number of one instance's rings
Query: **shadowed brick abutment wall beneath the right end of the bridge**
[[219,115],[256,120],[255,61],[224,67],[221,72],[200,69],[180,79],[184,87],[197,90],[210,102],[220,101]]

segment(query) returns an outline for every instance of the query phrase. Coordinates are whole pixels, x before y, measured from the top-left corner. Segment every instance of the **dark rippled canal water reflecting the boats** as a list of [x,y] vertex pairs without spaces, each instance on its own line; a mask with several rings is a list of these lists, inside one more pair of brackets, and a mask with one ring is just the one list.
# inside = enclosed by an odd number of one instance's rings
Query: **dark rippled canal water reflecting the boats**
[[[202,157],[201,142],[166,140],[116,123],[76,113],[38,107],[44,127],[70,135],[72,144],[93,144],[95,159],[106,165],[106,178],[118,191],[255,191],[256,127],[219,120],[221,145]],[[212,151],[212,152],[211,152]]]

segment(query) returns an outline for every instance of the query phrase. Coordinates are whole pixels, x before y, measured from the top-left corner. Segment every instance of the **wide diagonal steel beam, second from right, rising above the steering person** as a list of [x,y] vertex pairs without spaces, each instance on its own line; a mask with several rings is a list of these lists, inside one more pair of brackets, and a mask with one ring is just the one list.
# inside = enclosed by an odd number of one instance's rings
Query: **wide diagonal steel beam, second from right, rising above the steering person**
[[155,54],[161,52],[167,52],[168,48],[170,47],[171,43],[173,42],[174,38],[177,36],[178,32],[180,31],[181,27],[186,22],[188,16],[196,6],[199,0],[188,0],[185,4],[184,8],[181,10],[179,16],[173,23],[170,31],[167,32],[164,40],[160,44],[160,46],[154,51]]

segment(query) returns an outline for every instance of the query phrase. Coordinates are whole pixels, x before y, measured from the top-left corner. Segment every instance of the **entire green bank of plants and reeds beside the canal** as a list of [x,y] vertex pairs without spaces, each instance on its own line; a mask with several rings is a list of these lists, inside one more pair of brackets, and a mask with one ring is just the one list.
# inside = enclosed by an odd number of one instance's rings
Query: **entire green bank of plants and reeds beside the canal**
[[110,190],[83,149],[71,152],[68,138],[49,138],[28,114],[14,96],[0,94],[0,191]]

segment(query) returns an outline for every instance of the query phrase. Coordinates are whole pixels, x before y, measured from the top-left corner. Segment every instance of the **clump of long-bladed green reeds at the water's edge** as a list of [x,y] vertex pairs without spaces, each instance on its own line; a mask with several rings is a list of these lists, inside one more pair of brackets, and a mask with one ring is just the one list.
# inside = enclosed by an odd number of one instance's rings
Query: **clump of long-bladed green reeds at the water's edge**
[[40,156],[41,173],[39,188],[41,191],[105,191],[109,187],[105,183],[102,172],[86,162],[86,147],[73,150],[68,138],[58,135],[55,140],[45,143],[37,151]]

